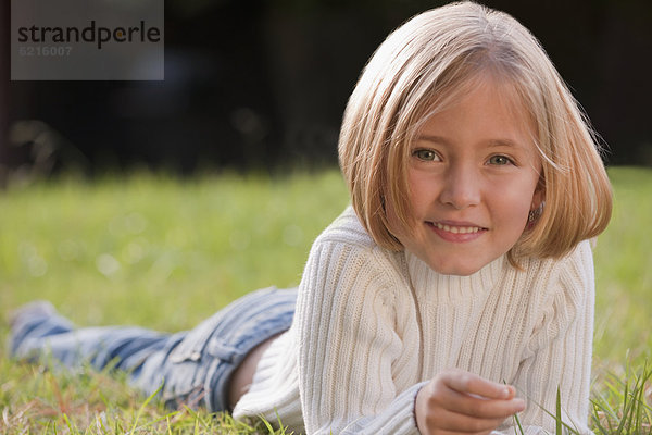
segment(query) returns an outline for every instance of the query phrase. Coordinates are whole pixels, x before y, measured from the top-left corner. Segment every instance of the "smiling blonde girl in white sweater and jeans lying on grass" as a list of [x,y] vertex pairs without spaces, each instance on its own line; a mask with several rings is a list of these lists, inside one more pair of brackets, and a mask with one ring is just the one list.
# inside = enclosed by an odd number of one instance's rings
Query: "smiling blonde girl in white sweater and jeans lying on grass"
[[308,434],[587,427],[588,239],[611,214],[597,145],[550,60],[511,16],[425,12],[366,65],[339,140],[352,206],[296,289],[259,290],[188,333],[73,330],[17,314],[12,350],[117,360],[146,393]]

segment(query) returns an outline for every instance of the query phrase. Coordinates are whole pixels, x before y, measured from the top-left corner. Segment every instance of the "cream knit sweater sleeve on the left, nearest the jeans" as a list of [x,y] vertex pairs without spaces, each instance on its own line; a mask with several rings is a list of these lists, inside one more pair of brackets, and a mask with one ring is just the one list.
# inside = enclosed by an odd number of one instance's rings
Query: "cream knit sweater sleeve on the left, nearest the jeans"
[[308,434],[418,434],[421,385],[398,391],[392,382],[402,347],[381,263],[364,246],[322,240],[311,250],[294,320]]

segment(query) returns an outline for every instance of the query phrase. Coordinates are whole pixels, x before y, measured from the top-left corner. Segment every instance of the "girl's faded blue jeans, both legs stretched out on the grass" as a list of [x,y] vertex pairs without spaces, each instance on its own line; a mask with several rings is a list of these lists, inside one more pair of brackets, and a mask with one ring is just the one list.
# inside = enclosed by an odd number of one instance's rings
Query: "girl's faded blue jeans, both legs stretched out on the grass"
[[133,326],[75,328],[55,312],[26,313],[13,325],[10,350],[22,359],[51,355],[71,369],[113,363],[148,396],[163,384],[160,394],[171,407],[224,411],[234,370],[255,346],[290,327],[296,301],[296,288],[263,288],[177,334]]

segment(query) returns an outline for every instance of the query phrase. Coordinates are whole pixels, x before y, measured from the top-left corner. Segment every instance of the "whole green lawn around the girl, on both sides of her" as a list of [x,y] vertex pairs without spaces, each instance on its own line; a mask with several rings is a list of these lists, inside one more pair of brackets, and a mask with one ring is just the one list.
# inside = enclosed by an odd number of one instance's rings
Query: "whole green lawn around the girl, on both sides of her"
[[[592,424],[597,433],[651,434],[652,171],[610,176],[614,216],[594,250]],[[187,179],[140,172],[15,186],[0,192],[0,314],[48,299],[79,325],[189,328],[254,288],[298,284],[312,240],[347,203],[336,171]],[[262,421],[170,413],[120,376],[54,376],[0,350],[0,433],[43,432],[275,433]]]

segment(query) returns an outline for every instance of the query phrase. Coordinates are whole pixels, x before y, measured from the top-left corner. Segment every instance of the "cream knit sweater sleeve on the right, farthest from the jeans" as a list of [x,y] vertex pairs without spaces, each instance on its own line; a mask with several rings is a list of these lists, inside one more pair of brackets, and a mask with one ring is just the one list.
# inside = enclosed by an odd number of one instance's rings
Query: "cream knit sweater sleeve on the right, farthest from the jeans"
[[[527,408],[519,421],[527,435],[554,433],[557,387],[562,421],[578,433],[588,428],[593,336],[594,278],[588,241],[550,276],[540,313],[512,383]],[[552,414],[552,415],[551,415]],[[513,423],[512,419],[507,423]],[[494,434],[512,434],[512,427]],[[519,431],[517,433],[521,433]]]

